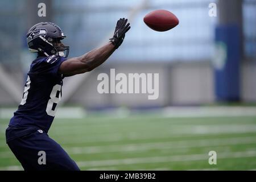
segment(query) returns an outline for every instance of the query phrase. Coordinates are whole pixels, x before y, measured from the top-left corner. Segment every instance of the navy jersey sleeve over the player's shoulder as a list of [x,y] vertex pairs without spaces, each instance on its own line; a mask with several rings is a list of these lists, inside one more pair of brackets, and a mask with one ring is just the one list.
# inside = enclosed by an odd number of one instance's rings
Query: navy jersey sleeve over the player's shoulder
[[65,60],[67,59],[56,55],[44,57],[44,59],[40,60],[39,63],[34,66],[32,72],[49,77],[60,76],[58,73],[59,67]]

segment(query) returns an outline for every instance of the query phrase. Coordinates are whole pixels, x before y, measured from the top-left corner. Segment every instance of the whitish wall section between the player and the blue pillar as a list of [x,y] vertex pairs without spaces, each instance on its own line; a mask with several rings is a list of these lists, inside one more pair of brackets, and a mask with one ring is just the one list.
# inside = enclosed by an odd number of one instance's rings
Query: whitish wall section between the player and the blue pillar
[[[99,73],[159,73],[159,98],[148,100],[147,94],[99,94]],[[64,82],[65,84],[65,82]],[[63,89],[63,96],[65,90]],[[209,63],[150,63],[104,65],[92,72],[71,102],[97,106],[167,106],[201,104],[214,101],[213,73]]]

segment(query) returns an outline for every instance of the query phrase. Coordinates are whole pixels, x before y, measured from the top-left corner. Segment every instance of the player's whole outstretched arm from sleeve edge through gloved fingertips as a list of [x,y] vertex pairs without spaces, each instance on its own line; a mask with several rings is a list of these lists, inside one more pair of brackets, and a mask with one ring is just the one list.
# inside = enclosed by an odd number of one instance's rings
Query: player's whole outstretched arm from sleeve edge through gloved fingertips
[[110,55],[121,46],[125,33],[129,31],[130,23],[127,23],[127,19],[122,18],[117,21],[113,38],[105,46],[85,53],[79,57],[72,57],[64,61],[59,68],[59,73],[64,76],[73,76],[80,73],[92,71],[104,63]]

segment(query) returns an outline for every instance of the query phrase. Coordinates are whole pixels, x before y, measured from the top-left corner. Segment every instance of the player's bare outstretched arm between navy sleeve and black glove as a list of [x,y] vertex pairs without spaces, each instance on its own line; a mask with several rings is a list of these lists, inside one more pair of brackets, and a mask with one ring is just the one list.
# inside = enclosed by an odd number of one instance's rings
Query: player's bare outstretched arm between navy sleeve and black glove
[[93,49],[82,56],[72,57],[64,61],[60,65],[59,73],[67,77],[92,71],[104,63],[114,51],[114,45],[109,42],[105,46]]

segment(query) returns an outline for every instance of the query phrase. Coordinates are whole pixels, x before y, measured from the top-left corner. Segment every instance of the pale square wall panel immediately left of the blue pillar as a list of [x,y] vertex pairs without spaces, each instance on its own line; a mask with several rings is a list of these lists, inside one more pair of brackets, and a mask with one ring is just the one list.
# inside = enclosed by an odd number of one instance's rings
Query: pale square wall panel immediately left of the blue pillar
[[214,78],[209,63],[176,64],[171,69],[172,104],[202,104],[214,101]]

